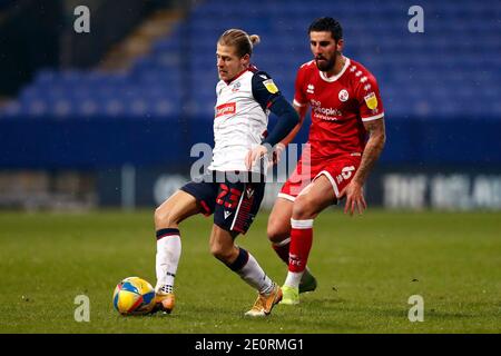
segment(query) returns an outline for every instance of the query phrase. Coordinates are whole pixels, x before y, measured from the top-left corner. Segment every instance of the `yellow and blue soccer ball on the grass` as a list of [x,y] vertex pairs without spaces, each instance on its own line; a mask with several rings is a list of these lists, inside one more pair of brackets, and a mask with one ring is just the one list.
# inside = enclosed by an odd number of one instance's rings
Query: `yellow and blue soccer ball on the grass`
[[145,315],[155,306],[155,289],[139,277],[121,280],[114,291],[114,307],[121,315]]

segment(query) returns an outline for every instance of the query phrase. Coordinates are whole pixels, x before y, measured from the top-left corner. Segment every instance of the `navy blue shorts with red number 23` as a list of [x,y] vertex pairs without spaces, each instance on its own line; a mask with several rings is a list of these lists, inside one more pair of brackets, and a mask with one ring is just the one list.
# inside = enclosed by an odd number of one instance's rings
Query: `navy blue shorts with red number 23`
[[214,224],[222,229],[247,233],[263,201],[264,176],[210,172],[200,180],[190,181],[180,190],[197,199],[205,216],[214,214]]

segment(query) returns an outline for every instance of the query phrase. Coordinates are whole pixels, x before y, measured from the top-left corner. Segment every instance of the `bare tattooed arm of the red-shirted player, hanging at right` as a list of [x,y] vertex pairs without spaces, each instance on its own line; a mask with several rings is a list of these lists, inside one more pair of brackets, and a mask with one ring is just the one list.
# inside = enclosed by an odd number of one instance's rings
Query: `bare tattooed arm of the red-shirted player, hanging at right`
[[364,127],[370,136],[362,154],[362,161],[352,181],[340,194],[340,198],[346,196],[344,212],[350,212],[350,215],[353,215],[355,209],[362,214],[363,210],[367,208],[367,204],[364,199],[363,186],[369,174],[380,158],[384,144],[386,142],[384,118],[364,121]]

